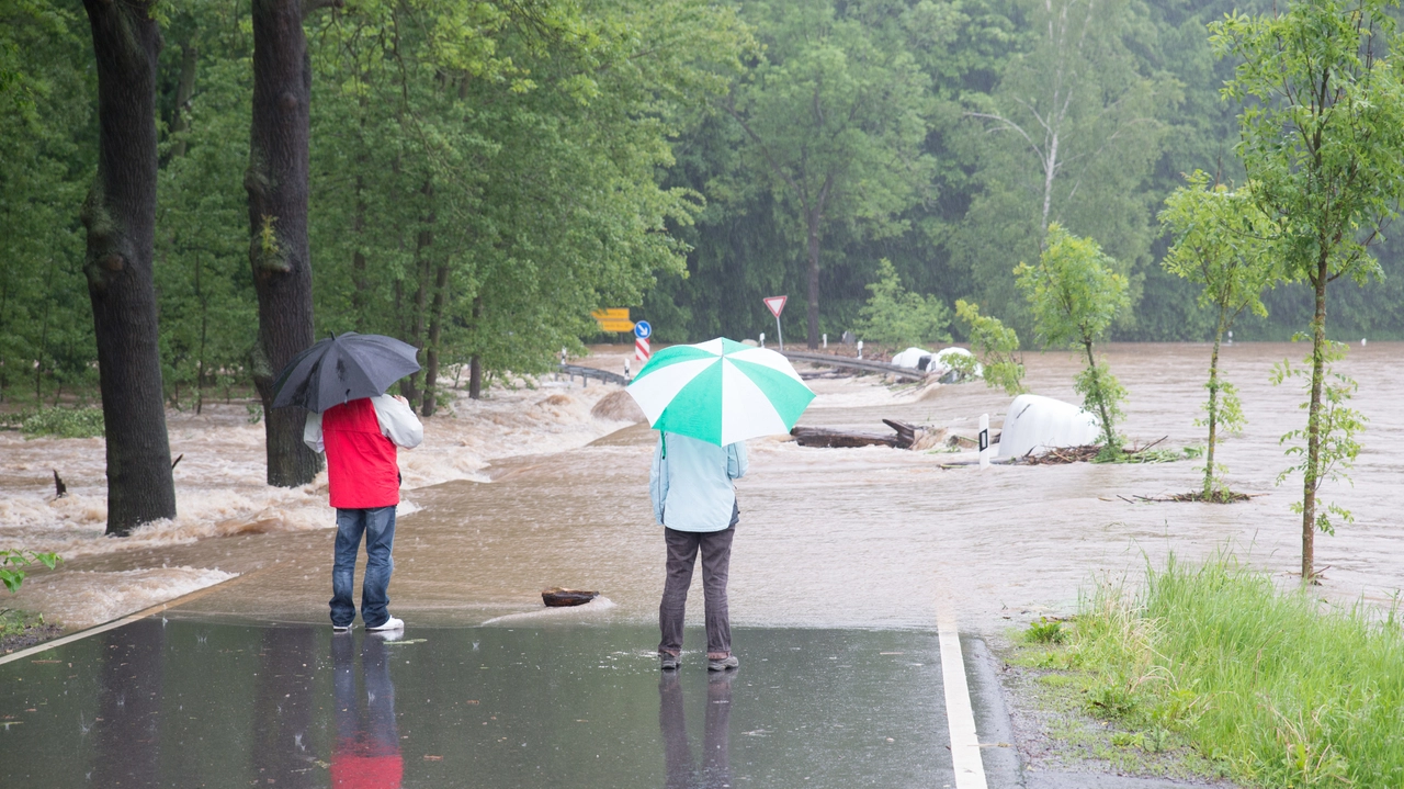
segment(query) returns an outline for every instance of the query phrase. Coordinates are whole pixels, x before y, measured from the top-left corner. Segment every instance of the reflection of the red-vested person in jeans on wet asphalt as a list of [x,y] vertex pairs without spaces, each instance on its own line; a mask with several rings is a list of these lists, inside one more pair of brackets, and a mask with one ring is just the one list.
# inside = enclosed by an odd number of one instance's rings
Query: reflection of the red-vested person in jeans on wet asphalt
[[400,737],[395,726],[395,685],[380,636],[361,644],[365,715],[355,692],[351,639],[331,640],[337,702],[337,743],[331,751],[333,789],[399,789],[404,778]]

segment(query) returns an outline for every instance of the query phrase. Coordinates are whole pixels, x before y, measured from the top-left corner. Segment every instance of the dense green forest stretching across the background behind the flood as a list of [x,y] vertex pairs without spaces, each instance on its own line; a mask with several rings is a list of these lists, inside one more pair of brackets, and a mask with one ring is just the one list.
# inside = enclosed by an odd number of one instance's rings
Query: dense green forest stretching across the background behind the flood
[[[258,365],[250,264],[250,0],[163,0],[153,278],[163,396],[199,409]],[[1032,337],[1014,270],[1050,225],[1095,239],[1132,309],[1113,340],[1205,341],[1214,312],[1163,265],[1157,219],[1200,170],[1233,187],[1238,62],[1209,25],[1268,0],[345,0],[302,4],[314,334],[423,350],[435,409],[549,369],[632,307],[661,341],[863,324],[873,288]],[[84,205],[98,67],[79,4],[0,4],[0,400],[97,389]],[[1404,246],[1328,295],[1339,340],[1404,337]],[[893,281],[893,275],[896,279]],[[886,279],[885,279],[886,277]],[[890,288],[889,288],[890,289]],[[1313,292],[1279,284],[1240,340],[1286,340]],[[967,338],[951,320],[948,331]]]

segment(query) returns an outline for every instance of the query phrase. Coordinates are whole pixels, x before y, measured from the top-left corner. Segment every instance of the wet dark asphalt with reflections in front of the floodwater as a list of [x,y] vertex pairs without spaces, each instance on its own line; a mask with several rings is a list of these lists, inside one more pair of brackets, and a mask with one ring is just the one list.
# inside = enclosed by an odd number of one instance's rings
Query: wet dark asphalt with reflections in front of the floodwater
[[953,783],[934,633],[739,629],[724,674],[654,639],[145,619],[0,667],[0,786]]

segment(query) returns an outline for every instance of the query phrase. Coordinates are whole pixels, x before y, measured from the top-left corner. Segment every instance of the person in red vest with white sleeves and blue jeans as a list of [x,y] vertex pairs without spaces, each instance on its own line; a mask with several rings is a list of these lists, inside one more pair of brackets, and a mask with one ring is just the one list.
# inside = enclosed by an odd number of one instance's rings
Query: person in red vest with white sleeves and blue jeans
[[424,425],[404,397],[379,394],[307,414],[302,441],[327,455],[327,490],[337,508],[336,563],[331,566],[331,629],[351,632],[355,622],[355,557],[365,535],[365,578],[361,621],[366,630],[400,630],[390,616],[390,573],[395,562],[395,505],[400,503],[396,446],[413,449],[424,441]]

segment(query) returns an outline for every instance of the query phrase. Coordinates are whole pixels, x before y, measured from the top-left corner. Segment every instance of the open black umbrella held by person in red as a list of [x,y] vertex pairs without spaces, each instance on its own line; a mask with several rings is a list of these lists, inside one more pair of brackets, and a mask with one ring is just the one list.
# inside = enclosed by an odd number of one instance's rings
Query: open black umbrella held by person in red
[[320,414],[347,400],[385,394],[392,383],[418,372],[417,352],[414,345],[382,334],[327,337],[282,369],[272,407],[302,406]]

